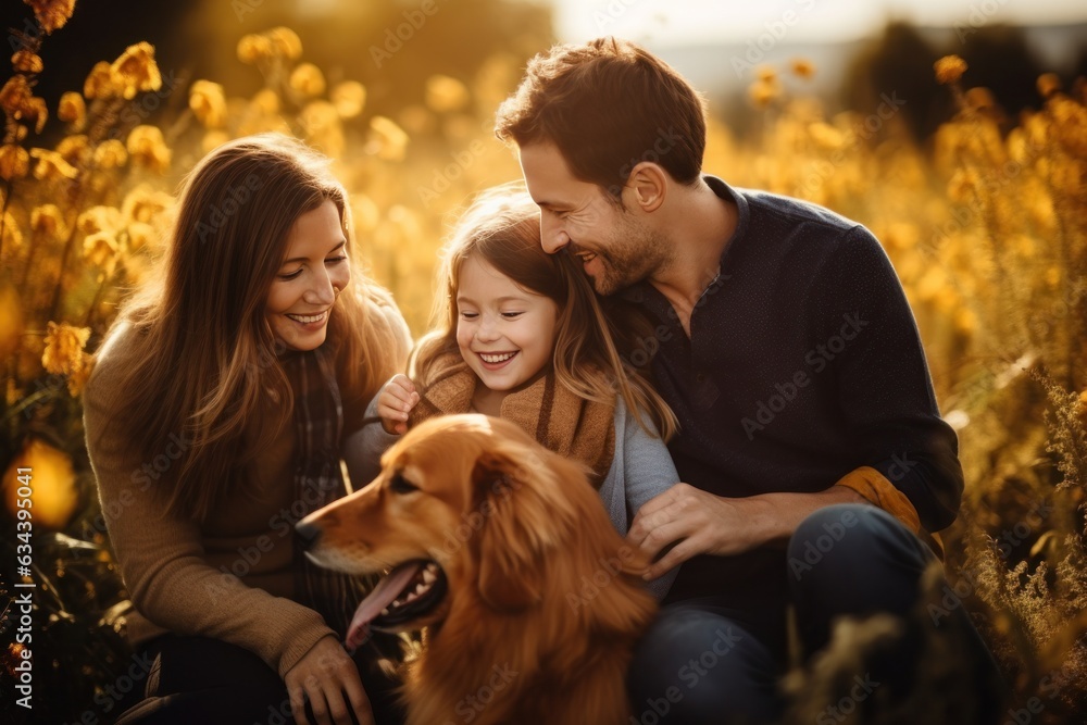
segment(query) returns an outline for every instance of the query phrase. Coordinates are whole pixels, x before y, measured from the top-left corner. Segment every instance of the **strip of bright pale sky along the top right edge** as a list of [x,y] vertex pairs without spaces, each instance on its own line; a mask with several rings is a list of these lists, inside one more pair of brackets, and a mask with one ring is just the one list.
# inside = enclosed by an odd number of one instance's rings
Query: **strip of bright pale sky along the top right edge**
[[888,18],[969,27],[1087,21],[1084,0],[551,0],[561,40],[616,35],[653,46],[745,42],[769,29],[791,41],[877,33]]

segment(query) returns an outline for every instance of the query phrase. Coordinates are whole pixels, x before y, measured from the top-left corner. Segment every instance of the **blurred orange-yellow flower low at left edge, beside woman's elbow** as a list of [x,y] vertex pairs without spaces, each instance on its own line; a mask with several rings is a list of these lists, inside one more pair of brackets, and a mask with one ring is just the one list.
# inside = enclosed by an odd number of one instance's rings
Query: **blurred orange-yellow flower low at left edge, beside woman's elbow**
[[4,501],[14,515],[18,510],[18,468],[30,470],[34,489],[34,525],[62,530],[79,504],[72,459],[49,443],[32,438],[3,476]]

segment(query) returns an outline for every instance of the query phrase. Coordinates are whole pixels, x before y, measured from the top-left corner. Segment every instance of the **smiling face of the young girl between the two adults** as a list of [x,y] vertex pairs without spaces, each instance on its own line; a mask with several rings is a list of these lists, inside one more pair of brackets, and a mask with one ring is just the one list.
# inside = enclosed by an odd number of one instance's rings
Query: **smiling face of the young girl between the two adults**
[[457,346],[490,390],[509,392],[551,363],[559,305],[518,287],[487,262],[461,263]]

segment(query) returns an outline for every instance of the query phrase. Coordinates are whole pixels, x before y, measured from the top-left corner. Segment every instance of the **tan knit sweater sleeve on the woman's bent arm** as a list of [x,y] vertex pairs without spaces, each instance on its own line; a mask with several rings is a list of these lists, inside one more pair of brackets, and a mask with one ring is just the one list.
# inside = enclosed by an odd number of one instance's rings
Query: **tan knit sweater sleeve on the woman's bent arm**
[[[103,350],[109,352],[109,350]],[[284,676],[317,640],[335,633],[322,616],[208,565],[197,523],[159,504],[140,457],[110,423],[120,361],[99,355],[84,392],[87,450],[102,514],[133,605],[178,635],[212,637],[258,654]],[[163,451],[176,442],[163,441]]]

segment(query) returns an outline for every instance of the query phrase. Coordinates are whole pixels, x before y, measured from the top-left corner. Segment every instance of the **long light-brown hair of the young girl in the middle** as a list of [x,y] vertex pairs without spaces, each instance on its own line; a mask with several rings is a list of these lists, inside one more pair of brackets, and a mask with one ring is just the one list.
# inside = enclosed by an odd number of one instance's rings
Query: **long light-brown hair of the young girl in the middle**
[[[539,209],[517,184],[478,197],[446,245],[438,272],[432,330],[412,353],[411,375],[424,388],[434,364],[457,346],[457,291],[464,261],[472,255],[490,264],[517,286],[551,299],[559,309],[552,355],[555,377],[587,400],[607,402],[621,395],[630,411],[647,411],[664,440],[677,422],[672,409],[640,374],[625,365],[592,285],[565,250],[548,254],[540,246]],[[466,365],[466,363],[462,363]],[[589,375],[588,371],[603,375]],[[641,415],[637,416],[645,427]]]

